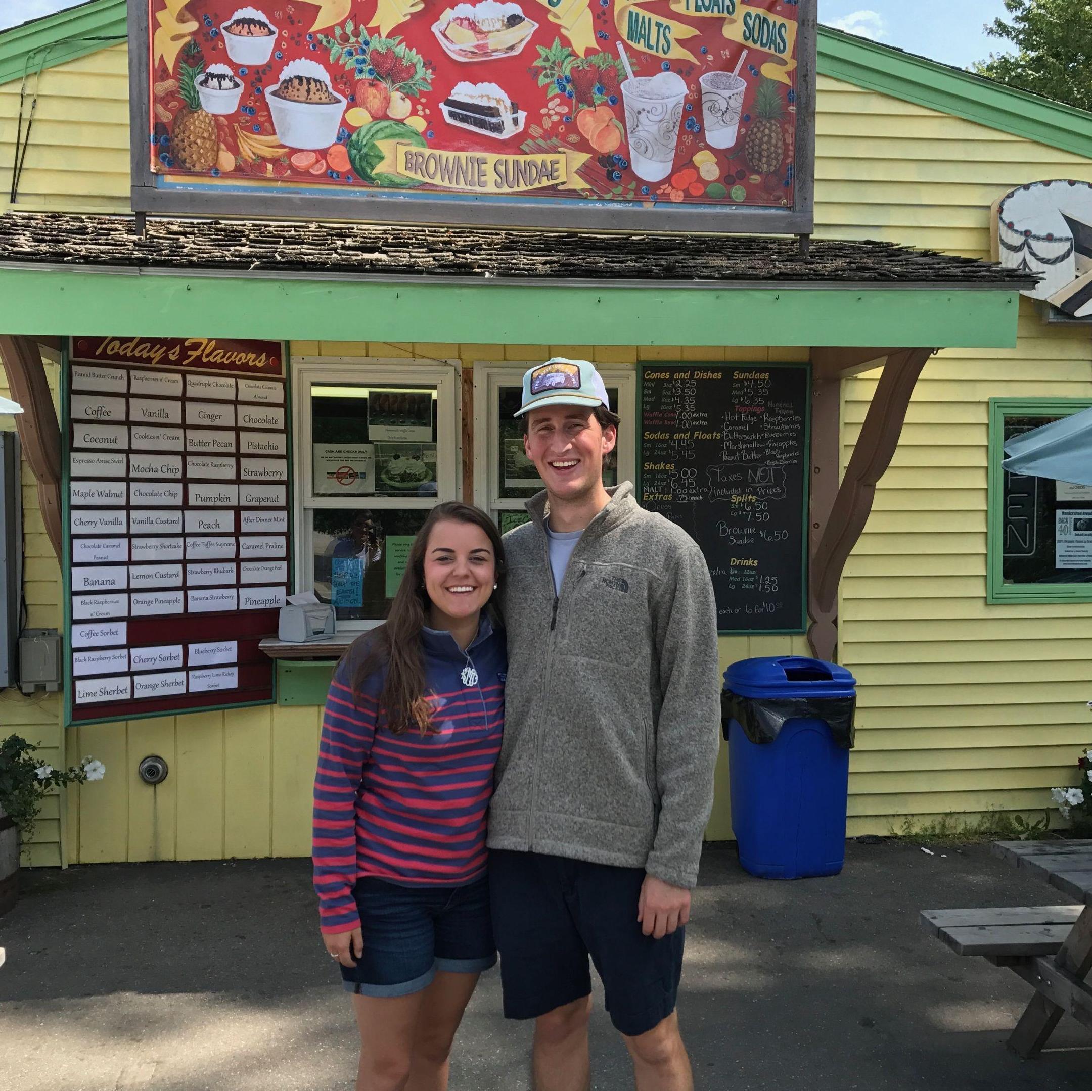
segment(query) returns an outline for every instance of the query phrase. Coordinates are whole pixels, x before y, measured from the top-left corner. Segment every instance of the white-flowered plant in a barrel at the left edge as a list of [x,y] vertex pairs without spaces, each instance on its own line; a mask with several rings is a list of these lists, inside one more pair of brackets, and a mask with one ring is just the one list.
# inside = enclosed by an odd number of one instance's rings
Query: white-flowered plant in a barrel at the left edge
[[35,747],[20,735],[0,742],[0,913],[19,897],[20,840],[34,832],[46,792],[102,780],[106,774],[106,766],[90,755],[79,765],[55,769],[34,754]]

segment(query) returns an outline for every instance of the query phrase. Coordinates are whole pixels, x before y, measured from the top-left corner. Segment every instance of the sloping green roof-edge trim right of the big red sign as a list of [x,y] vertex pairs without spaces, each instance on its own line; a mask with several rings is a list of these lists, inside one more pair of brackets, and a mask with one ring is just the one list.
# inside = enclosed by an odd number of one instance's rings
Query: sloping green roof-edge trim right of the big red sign
[[818,71],[857,87],[1092,158],[1092,113],[829,26],[819,27]]

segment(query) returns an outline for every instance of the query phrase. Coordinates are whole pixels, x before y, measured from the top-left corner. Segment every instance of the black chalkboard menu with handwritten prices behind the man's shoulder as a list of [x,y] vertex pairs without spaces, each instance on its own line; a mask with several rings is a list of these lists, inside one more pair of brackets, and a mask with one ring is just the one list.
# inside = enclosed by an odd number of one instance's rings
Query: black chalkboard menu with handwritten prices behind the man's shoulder
[[806,627],[808,370],[649,364],[638,494],[705,554],[722,633]]

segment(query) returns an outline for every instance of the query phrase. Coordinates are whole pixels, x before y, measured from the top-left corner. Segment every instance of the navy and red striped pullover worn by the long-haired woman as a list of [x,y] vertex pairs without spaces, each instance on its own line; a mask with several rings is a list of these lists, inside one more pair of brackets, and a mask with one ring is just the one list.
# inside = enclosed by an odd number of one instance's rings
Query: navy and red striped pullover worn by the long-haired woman
[[505,726],[503,633],[483,615],[464,652],[422,632],[435,734],[392,734],[379,705],[383,672],[354,693],[359,639],[334,671],[314,776],[311,855],[325,933],[358,927],[353,886],[464,886],[485,874],[486,817]]

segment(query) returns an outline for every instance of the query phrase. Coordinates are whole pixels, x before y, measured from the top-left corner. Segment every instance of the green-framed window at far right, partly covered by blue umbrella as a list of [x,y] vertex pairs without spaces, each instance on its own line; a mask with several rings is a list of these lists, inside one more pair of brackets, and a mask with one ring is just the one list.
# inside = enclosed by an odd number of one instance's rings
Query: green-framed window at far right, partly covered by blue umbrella
[[1092,487],[1001,467],[1007,441],[1090,405],[990,399],[987,602],[1092,602]]

